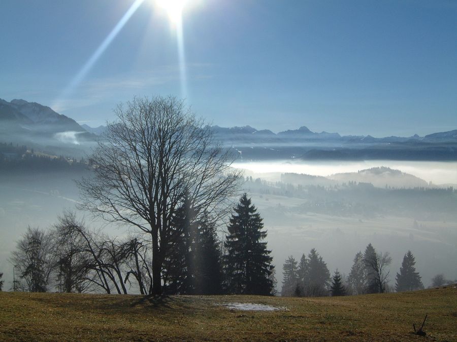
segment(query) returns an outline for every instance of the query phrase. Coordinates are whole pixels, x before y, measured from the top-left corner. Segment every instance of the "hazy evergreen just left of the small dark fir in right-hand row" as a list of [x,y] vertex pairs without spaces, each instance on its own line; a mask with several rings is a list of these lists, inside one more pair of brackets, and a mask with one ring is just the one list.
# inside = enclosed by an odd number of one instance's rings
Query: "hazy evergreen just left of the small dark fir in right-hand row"
[[328,293],[330,272],[327,263],[313,248],[308,254],[308,272],[305,276],[305,295],[309,297],[324,296]]

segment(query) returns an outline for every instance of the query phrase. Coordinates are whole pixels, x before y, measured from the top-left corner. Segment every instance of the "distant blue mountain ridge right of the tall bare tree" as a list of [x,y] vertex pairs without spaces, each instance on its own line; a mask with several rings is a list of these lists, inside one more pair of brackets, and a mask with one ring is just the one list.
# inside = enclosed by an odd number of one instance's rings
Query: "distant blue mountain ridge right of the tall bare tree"
[[313,132],[306,126],[277,134],[251,126],[212,126],[217,140],[233,148],[243,160],[446,160],[457,161],[457,130],[420,137],[341,136]]

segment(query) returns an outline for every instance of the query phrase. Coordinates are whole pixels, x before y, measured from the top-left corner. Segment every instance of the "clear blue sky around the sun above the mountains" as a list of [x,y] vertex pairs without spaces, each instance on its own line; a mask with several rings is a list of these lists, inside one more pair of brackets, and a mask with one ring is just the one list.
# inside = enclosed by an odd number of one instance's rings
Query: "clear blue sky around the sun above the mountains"
[[[0,98],[89,126],[133,96],[185,96],[219,126],[373,136],[457,129],[457,1],[2,0]],[[79,75],[79,76],[78,76]],[[81,76],[82,75],[82,76]]]

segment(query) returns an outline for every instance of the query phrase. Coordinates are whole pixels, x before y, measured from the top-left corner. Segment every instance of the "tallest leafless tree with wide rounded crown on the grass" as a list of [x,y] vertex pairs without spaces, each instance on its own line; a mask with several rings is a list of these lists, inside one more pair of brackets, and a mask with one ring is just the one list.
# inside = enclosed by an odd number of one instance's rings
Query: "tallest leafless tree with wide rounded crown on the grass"
[[161,294],[161,269],[179,236],[173,217],[187,193],[195,212],[214,217],[230,208],[240,173],[215,143],[210,128],[173,97],[135,98],[115,110],[94,151],[93,177],[79,182],[81,208],[150,235],[152,288]]

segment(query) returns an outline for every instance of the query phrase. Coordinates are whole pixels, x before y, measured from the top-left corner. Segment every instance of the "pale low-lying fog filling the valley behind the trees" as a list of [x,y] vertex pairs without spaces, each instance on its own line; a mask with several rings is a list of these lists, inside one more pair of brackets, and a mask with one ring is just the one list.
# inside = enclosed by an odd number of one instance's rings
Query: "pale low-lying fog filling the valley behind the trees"
[[[348,274],[353,257],[368,243],[393,257],[390,285],[395,285],[403,255],[411,250],[416,270],[425,286],[436,274],[457,278],[457,192],[454,189],[402,189],[369,184],[311,179],[300,175],[281,178],[281,173],[328,176],[386,166],[434,184],[457,183],[457,162],[254,162],[236,163],[246,169],[244,191],[264,218],[268,248],[276,264],[277,289],[281,289],[282,264],[316,248],[331,273]],[[81,174],[0,175],[0,272],[8,290],[12,265],[8,258],[26,227],[47,228],[66,208],[75,208],[78,188],[73,179]],[[398,174],[391,175],[394,181]],[[259,177],[260,179],[257,179]],[[415,177],[413,177],[415,178]],[[282,179],[282,182],[279,180]],[[320,181],[330,185],[318,186]],[[398,179],[397,179],[398,180]],[[290,183],[289,183],[290,181]],[[387,185],[387,184],[386,184]],[[428,185],[428,184],[427,184]],[[237,200],[237,199],[235,199]],[[100,225],[90,221],[90,225]],[[125,230],[106,226],[111,236]]]

